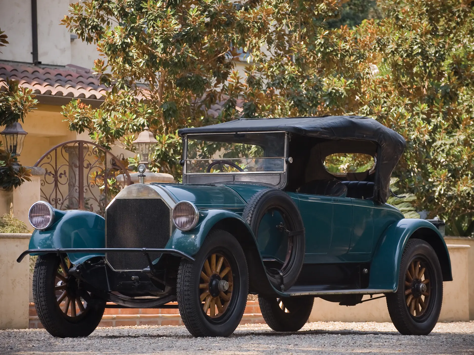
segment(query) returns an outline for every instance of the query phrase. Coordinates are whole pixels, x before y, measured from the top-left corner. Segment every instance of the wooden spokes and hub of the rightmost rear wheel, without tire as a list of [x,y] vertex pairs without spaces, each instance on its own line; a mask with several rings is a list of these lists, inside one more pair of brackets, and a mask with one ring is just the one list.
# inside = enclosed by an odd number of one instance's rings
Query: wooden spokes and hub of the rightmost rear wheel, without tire
[[429,304],[429,266],[420,259],[414,259],[405,274],[405,299],[410,315],[422,317]]

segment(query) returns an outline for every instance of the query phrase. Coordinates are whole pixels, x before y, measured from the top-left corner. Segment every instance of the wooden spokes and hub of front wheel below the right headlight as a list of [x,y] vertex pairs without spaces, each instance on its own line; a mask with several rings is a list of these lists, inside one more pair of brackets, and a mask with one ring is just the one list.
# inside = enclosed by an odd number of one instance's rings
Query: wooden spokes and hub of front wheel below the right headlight
[[232,298],[232,268],[226,257],[214,253],[205,261],[199,284],[202,311],[210,318],[222,316]]

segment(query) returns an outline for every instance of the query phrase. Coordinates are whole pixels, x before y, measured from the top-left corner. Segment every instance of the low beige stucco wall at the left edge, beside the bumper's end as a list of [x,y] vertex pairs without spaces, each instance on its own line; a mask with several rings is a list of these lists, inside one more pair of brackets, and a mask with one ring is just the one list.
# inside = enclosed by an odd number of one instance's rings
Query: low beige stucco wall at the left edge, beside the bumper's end
[[29,259],[17,257],[30,236],[0,233],[0,329],[28,328]]

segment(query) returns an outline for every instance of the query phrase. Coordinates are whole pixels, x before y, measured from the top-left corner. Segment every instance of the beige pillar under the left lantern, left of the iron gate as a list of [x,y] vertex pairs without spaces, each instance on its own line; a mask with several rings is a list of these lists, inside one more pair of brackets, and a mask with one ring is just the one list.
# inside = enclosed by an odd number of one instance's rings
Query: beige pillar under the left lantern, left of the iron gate
[[45,169],[38,167],[25,167],[31,169],[31,181],[25,181],[23,184],[13,189],[13,216],[24,222],[27,227],[33,227],[28,222],[28,211],[33,203],[41,200],[41,178],[45,176]]

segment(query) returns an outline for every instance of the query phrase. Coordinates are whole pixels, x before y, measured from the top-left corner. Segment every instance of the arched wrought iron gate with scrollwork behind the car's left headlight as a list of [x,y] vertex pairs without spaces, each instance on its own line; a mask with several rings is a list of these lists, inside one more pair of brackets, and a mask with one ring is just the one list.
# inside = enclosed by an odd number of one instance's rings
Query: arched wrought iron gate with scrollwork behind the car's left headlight
[[60,210],[80,209],[101,215],[131,179],[124,164],[110,151],[92,142],[56,145],[35,164],[46,170],[41,198]]

